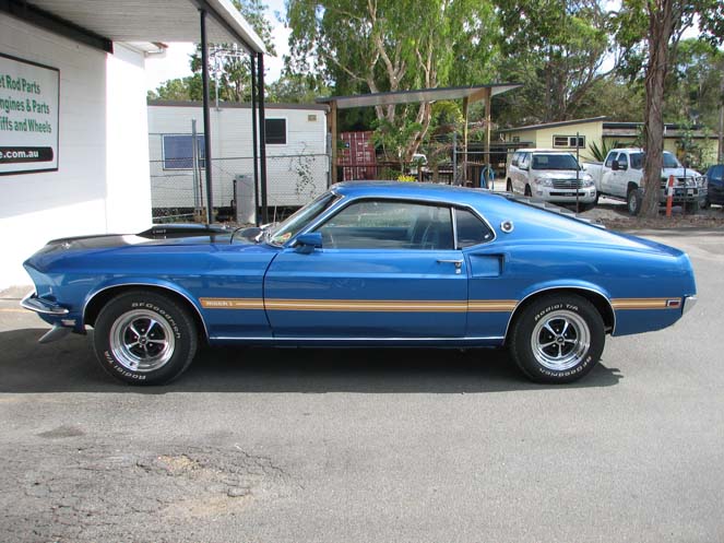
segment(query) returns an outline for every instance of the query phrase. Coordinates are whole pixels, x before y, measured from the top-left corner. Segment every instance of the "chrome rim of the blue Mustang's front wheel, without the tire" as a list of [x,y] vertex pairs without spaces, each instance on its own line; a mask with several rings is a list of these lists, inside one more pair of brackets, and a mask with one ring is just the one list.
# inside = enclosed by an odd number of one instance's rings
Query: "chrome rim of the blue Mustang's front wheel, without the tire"
[[163,316],[138,309],[121,315],[110,328],[110,351],[126,369],[154,371],[174,355],[176,335]]

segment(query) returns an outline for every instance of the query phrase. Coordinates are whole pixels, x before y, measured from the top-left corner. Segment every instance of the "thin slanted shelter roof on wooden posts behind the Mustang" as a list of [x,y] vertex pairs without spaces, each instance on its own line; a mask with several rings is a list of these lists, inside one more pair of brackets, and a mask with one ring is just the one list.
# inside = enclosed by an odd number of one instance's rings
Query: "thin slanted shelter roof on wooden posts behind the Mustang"
[[448,86],[442,88],[417,88],[414,91],[397,91],[392,93],[360,94],[356,96],[328,96],[317,98],[321,104],[336,102],[339,109],[353,107],[384,106],[389,104],[413,104],[419,102],[436,102],[440,99],[467,98],[470,104],[484,99],[488,88],[491,96],[507,93],[523,86],[520,83],[490,83],[475,86]]

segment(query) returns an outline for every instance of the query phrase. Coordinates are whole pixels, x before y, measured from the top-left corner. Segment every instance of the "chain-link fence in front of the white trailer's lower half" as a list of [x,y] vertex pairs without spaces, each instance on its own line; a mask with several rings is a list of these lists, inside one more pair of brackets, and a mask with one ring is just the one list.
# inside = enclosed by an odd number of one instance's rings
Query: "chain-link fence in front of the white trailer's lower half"
[[[194,167],[194,163],[195,166]],[[266,157],[266,204],[270,220],[281,220],[327,190],[327,154]],[[261,205],[253,190],[253,157],[213,158],[212,200],[215,222],[250,224]],[[205,163],[192,157],[151,161],[154,223],[205,222]],[[258,209],[257,209],[258,211]]]

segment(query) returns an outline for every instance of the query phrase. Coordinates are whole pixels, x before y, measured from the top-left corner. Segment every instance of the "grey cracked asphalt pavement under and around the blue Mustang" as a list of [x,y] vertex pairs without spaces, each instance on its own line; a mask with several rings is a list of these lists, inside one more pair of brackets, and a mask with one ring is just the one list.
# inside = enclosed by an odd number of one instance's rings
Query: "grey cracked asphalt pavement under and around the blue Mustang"
[[206,350],[118,385],[0,300],[2,542],[724,540],[724,237],[699,304],[573,386],[501,351]]

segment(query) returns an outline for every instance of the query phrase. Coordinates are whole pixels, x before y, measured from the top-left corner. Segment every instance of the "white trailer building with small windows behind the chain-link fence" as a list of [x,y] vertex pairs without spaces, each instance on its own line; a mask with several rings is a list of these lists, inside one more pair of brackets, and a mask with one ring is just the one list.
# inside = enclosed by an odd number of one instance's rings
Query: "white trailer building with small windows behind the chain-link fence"
[[[300,206],[327,190],[327,111],[321,104],[266,104],[265,143],[269,206]],[[211,109],[214,208],[230,208],[234,179],[253,179],[249,104],[221,103]],[[183,221],[204,202],[204,173],[194,176],[192,121],[203,158],[203,109],[197,102],[149,103],[151,198],[154,217]],[[253,189],[250,189],[253,190]],[[199,196],[201,194],[201,196]],[[253,192],[245,202],[253,209]],[[241,203],[241,202],[240,202]],[[248,219],[248,217],[247,217]]]

